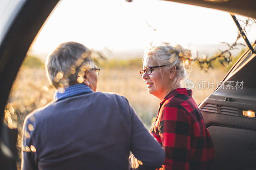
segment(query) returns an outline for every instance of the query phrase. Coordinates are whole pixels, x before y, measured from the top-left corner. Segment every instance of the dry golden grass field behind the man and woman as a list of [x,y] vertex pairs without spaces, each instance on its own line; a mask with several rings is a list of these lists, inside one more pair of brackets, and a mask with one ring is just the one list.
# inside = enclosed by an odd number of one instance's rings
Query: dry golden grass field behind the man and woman
[[[101,68],[98,76],[97,91],[116,92],[124,95],[149,129],[152,119],[157,115],[160,100],[148,94],[146,84],[140,76],[141,66],[124,66]],[[190,69],[191,70],[191,69]],[[213,89],[196,89],[198,81],[214,81],[215,83],[226,74],[226,69],[218,67],[204,73],[199,68],[193,68],[188,76],[195,83],[193,98],[200,104]],[[214,89],[216,85],[214,86]],[[14,110],[19,130],[18,148],[21,146],[21,129],[25,116],[34,109],[42,107],[53,100],[55,90],[49,85],[44,68],[21,67],[12,86],[6,110]],[[13,117],[13,115],[12,115]],[[5,123],[8,124],[7,120]],[[20,155],[20,151],[19,151]]]

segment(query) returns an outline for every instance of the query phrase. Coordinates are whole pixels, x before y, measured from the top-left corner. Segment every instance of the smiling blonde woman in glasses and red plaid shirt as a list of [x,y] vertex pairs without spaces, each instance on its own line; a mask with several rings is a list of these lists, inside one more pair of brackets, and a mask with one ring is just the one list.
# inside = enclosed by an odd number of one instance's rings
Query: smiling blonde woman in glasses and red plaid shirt
[[189,50],[180,45],[152,47],[143,56],[140,71],[148,93],[161,100],[150,132],[165,150],[160,169],[209,169],[214,159],[212,139],[192,91],[181,88],[186,77],[183,63]]

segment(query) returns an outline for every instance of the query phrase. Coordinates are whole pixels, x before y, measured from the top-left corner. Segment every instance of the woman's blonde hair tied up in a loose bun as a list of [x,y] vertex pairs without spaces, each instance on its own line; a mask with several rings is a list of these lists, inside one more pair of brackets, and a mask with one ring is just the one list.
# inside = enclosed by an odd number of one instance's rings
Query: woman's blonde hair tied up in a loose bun
[[142,57],[143,66],[149,59],[154,60],[158,65],[166,65],[164,70],[170,70],[176,67],[176,73],[173,77],[174,82],[178,82],[187,77],[185,67],[191,64],[191,50],[183,48],[181,45],[175,46],[152,46],[144,52]]

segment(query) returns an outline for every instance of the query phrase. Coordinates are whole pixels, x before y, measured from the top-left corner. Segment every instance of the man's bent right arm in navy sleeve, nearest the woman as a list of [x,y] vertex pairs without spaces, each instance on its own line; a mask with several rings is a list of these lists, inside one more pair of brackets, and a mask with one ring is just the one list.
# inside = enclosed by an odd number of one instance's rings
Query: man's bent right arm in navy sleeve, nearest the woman
[[[135,162],[139,166],[138,169],[150,170],[160,167],[165,158],[163,148],[148,132],[132,107],[130,107],[130,113],[132,118],[131,152],[139,160]],[[134,157],[131,159],[134,160]]]

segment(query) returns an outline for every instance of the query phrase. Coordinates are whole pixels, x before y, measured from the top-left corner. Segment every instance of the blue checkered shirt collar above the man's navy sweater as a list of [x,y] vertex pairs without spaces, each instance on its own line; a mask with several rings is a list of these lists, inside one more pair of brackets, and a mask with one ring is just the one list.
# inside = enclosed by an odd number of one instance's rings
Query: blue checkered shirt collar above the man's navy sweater
[[80,84],[71,85],[68,88],[65,88],[65,91],[63,93],[57,91],[54,99],[55,100],[65,99],[71,96],[75,96],[82,93],[88,93],[88,92],[92,92],[92,89],[87,85],[80,83]]

